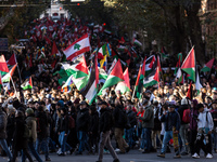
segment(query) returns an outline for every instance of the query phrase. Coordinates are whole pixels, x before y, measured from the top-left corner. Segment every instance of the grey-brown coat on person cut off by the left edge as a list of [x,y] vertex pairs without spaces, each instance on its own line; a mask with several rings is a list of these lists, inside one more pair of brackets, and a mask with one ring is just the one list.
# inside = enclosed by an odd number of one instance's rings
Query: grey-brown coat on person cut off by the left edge
[[0,110],[0,139],[7,138],[7,113]]

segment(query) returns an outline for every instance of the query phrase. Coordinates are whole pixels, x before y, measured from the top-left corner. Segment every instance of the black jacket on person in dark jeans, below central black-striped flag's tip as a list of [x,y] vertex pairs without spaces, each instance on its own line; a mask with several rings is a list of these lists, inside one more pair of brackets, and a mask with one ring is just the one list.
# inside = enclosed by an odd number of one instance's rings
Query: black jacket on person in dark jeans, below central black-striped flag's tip
[[84,108],[77,114],[77,121],[76,121],[77,131],[88,132],[89,123],[90,123],[89,109],[88,108]]

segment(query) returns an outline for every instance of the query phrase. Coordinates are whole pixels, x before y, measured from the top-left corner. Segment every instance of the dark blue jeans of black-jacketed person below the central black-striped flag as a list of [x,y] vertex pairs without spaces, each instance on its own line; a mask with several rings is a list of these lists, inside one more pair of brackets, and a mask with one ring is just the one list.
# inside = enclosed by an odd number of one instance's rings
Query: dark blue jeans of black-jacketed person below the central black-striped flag
[[90,151],[90,147],[89,147],[89,144],[88,144],[88,134],[87,134],[87,132],[78,131],[77,132],[77,137],[78,137],[78,140],[79,140],[78,152],[81,153],[82,150],[85,149],[85,147],[88,149],[88,151]]

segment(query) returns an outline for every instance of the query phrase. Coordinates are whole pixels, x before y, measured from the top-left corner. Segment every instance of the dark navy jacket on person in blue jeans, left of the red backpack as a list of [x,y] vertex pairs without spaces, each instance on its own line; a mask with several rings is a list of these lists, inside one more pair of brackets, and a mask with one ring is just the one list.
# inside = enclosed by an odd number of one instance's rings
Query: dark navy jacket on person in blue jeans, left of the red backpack
[[173,131],[174,126],[177,131],[180,129],[181,121],[179,113],[176,110],[167,112],[167,114],[163,114],[161,121],[164,122],[165,131]]

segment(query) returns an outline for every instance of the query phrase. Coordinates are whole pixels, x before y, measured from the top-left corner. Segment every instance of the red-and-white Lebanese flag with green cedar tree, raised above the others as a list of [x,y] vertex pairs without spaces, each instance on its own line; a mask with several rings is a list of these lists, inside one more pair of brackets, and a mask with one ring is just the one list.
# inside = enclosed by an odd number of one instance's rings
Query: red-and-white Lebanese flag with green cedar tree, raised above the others
[[67,46],[64,50],[64,54],[66,55],[67,60],[71,60],[82,53],[89,52],[90,50],[90,40],[87,33]]

